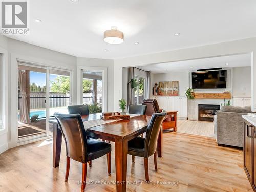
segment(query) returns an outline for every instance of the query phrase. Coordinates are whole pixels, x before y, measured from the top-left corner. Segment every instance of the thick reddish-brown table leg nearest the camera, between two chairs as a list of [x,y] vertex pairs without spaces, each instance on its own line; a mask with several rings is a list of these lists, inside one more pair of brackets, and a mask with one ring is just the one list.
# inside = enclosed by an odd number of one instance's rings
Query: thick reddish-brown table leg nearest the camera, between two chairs
[[126,191],[128,142],[123,139],[115,139],[115,162],[116,162],[116,191]]

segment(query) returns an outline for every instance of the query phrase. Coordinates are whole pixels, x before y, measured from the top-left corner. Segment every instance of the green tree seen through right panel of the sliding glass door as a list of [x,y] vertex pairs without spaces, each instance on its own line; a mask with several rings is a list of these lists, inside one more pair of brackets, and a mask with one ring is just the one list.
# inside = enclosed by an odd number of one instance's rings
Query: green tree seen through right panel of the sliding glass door
[[70,91],[70,80],[67,76],[57,76],[51,83],[51,92],[67,93]]

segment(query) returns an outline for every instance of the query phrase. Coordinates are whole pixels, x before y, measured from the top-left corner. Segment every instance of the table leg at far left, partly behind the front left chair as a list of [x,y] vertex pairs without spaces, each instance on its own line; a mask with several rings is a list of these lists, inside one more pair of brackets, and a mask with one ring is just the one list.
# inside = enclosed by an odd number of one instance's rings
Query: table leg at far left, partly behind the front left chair
[[59,166],[60,152],[62,143],[62,133],[57,124],[53,124],[53,154],[52,154],[52,166]]

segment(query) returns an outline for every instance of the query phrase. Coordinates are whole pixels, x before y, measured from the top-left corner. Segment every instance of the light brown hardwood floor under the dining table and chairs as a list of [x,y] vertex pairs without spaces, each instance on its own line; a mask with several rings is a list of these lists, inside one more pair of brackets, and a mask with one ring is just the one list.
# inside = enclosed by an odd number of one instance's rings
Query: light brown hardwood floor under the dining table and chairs
[[[157,158],[158,172],[153,156],[149,158],[150,184],[145,184],[144,158],[136,157],[132,163],[132,156],[128,156],[127,181],[134,183],[127,184],[127,191],[252,191],[243,170],[241,150],[219,147],[214,138],[173,132],[164,133],[163,142],[163,157]],[[49,141],[0,154],[0,191],[79,191],[82,164],[71,160],[69,181],[65,183],[65,144],[62,146],[58,168],[52,167]],[[92,168],[88,166],[88,182],[115,182],[114,151],[112,142],[111,176],[103,156],[92,162]],[[86,191],[116,191],[116,186],[87,184]]]

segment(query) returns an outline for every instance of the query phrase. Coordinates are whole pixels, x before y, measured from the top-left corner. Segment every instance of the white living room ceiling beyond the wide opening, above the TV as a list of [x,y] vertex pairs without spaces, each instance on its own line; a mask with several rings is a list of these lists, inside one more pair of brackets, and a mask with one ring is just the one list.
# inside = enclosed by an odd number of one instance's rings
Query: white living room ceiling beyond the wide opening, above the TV
[[[228,65],[226,65],[228,63]],[[211,57],[178,62],[167,62],[140,66],[140,69],[152,73],[168,73],[173,71],[193,71],[208,68],[230,68],[251,66],[251,54],[231,55],[223,57]]]

